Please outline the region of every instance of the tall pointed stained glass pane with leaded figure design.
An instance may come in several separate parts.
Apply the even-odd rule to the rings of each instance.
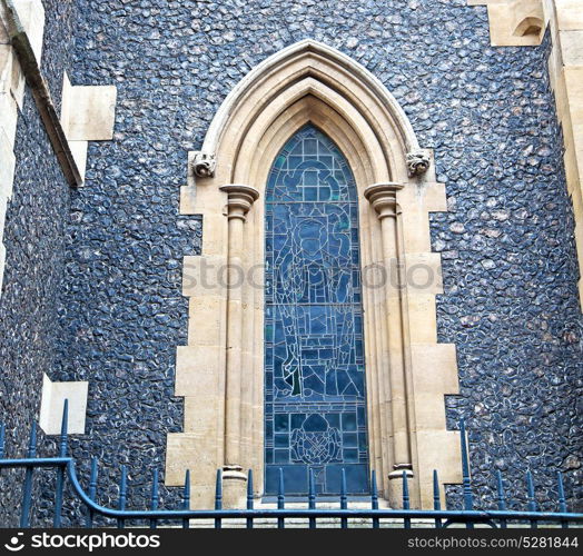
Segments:
[[[307,126],[281,149],[266,193],[266,493],[368,492],[356,185]]]

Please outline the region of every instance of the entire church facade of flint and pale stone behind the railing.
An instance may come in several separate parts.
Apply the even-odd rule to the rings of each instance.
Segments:
[[[0,408],[191,506],[581,504],[583,9],[0,0]],[[85,467],[83,467],[85,466]],[[580,487],[579,487],[580,488]],[[2,512],[18,487],[2,485]],[[147,492],[135,489],[136,504]],[[42,509],[39,509],[42,513]]]

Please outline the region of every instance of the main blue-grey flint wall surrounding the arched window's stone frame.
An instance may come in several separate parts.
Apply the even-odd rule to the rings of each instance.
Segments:
[[[116,83],[118,107],[115,140],[90,145],[87,186],[71,195],[53,379],[89,380],[75,453],[83,473],[90,455],[102,459],[101,502],[115,500],[126,463],[144,506],[166,434],[181,428],[181,260],[204,234],[179,216],[187,151],[250,68],[314,38],[377,76],[435,149],[451,208],[432,218],[446,287],[439,340],[457,345],[462,386],[447,411],[452,427],[467,419],[478,503],[492,498],[493,470],[518,496],[531,467],[544,497],[567,471],[573,505],[583,320],[549,44],[490,47],[485,9],[465,0],[79,0],[78,10],[75,85]]]

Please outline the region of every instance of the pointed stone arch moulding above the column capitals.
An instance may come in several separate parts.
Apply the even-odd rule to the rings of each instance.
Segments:
[[[388,169],[392,179],[407,171],[407,155],[428,156],[421,151],[405,112],[376,77],[338,50],[309,39],[271,56],[233,89],[210,123],[202,156],[227,157],[224,162],[231,162],[235,173],[237,163],[245,159],[248,139],[260,140],[273,120],[304,97],[323,100],[359,130],[366,152],[375,157],[378,167]],[[425,166],[408,170],[422,172],[428,165],[424,160]],[[227,165],[221,167],[229,170]],[[378,179],[384,177],[382,172]]]

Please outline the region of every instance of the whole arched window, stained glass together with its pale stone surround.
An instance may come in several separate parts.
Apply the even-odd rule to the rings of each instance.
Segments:
[[[355,60],[304,40],[231,90],[189,156],[180,211],[202,215],[202,252],[185,259],[185,426],[168,435],[167,483],[192,469],[205,507],[221,467],[237,505],[249,468],[260,496],[279,467],[289,494],[306,492],[309,468],[337,493],[342,467],[366,492],[369,467],[394,507],[403,471],[411,504],[431,506],[433,469],[461,477],[428,218],[446,209],[445,188],[398,102]]]

